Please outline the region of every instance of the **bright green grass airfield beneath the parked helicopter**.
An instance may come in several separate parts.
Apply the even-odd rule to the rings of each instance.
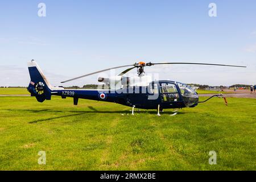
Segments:
[[[199,93],[203,101],[218,92]],[[213,98],[158,117],[90,100],[42,104],[26,89],[0,89],[0,170],[256,170],[256,95],[224,93],[228,106]]]

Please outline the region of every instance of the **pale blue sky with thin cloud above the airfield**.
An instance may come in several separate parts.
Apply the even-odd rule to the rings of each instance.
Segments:
[[[46,16],[38,15],[39,3]],[[216,17],[209,16],[210,3]],[[246,65],[145,71],[185,83],[256,84],[256,1],[1,1],[0,86],[27,86],[32,59],[54,86],[97,84],[110,72],[60,82],[142,60]]]

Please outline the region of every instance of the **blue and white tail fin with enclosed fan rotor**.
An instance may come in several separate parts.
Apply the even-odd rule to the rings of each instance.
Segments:
[[[52,90],[63,89],[52,87],[34,60],[28,62],[28,71],[30,72],[31,81],[27,90],[31,93],[31,96],[35,96],[39,102],[51,100]]]

